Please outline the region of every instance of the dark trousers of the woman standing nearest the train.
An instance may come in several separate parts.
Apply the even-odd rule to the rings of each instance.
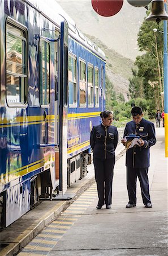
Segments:
[[[98,206],[110,205],[115,156],[109,159],[94,158],[93,163],[97,183]]]

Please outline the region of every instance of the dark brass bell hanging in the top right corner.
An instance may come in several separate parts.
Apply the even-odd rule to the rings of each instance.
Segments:
[[[161,20],[166,19],[168,19],[168,15],[165,11],[164,0],[152,0],[152,9],[145,20],[156,20],[157,23],[160,23]]]

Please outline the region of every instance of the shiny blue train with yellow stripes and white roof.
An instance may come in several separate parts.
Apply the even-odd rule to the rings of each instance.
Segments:
[[[87,174],[105,109],[105,55],[54,0],[0,1],[0,217]]]

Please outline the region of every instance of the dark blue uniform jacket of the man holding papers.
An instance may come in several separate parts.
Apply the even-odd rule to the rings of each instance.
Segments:
[[[145,119],[142,119],[139,125],[136,125],[134,121],[128,122],[124,130],[124,137],[130,134],[139,135],[145,144],[143,147],[135,146],[127,150],[126,166],[149,167],[149,148],[156,143],[154,124]]]

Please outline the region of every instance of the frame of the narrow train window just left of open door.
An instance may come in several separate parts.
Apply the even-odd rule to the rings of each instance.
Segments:
[[[48,46],[49,46],[49,102],[47,105],[44,105],[44,104],[41,104],[41,100],[40,100],[40,91],[41,91],[41,86],[40,86],[40,43],[42,42],[45,42],[45,43],[48,43]],[[51,56],[50,56],[50,42],[49,40],[45,39],[43,36],[40,36],[39,37],[39,42],[38,42],[38,65],[39,65],[39,70],[38,70],[38,77],[39,77],[39,103],[40,103],[40,106],[44,107],[44,108],[49,108],[49,105],[50,105],[50,61],[51,61]],[[46,97],[47,97],[47,94],[46,94]]]

